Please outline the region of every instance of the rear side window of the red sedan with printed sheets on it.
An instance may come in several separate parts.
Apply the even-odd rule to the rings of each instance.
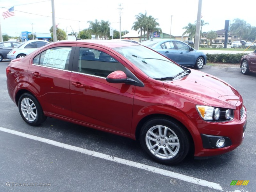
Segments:
[[[71,49],[71,47],[47,49],[33,59],[33,64],[68,70]]]

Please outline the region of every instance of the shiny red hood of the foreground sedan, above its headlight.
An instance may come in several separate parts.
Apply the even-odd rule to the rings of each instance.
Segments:
[[[164,81],[167,90],[185,94],[211,106],[237,109],[242,99],[237,90],[221,79],[191,69],[191,73],[174,81]],[[239,102],[240,101],[240,102]]]

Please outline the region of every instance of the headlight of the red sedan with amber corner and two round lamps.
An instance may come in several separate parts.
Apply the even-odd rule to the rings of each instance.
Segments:
[[[227,121],[233,119],[233,110],[205,105],[196,105],[198,114],[206,121]]]

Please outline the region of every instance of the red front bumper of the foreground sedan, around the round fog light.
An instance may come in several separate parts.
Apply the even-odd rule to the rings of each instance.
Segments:
[[[245,109],[245,108],[244,108]],[[223,153],[234,150],[241,145],[247,124],[246,109],[242,119],[240,120],[240,113],[237,110],[236,117],[232,121],[221,123],[202,123],[198,124],[200,132],[200,141],[195,142],[195,158],[206,158],[210,156],[217,156]],[[225,143],[221,147],[216,147],[218,139],[224,138]],[[199,139],[199,138],[198,138]]]

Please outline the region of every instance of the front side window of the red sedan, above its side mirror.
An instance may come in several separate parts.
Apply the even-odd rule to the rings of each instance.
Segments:
[[[125,71],[125,67],[105,52],[81,47],[78,59],[78,72],[107,77],[114,71]]]

